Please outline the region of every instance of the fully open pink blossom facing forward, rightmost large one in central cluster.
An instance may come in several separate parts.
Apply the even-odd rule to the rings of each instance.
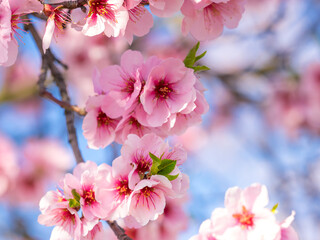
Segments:
[[[159,127],[195,101],[195,81],[193,70],[179,59],[168,58],[152,68],[140,97],[148,124]]]

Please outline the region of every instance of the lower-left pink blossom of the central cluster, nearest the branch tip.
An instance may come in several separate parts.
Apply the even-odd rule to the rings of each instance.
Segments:
[[[122,110],[109,95],[90,97],[83,119],[83,135],[90,148],[104,148],[115,139],[115,129]]]

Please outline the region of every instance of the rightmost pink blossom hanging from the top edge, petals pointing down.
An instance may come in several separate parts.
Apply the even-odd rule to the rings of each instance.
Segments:
[[[244,12],[245,0],[185,0],[182,32],[199,41],[221,35],[223,27],[236,28]]]

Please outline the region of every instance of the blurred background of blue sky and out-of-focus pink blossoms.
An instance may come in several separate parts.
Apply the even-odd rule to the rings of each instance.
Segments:
[[[128,48],[145,57],[184,59],[196,40],[181,35],[182,15],[154,20],[150,33],[131,46],[73,29],[53,41],[53,52],[69,66],[65,77],[73,104],[84,107],[93,95],[94,68],[119,64]],[[43,33],[45,22],[33,21]],[[0,68],[0,239],[42,240],[52,228],[37,222],[39,200],[75,161],[64,110],[38,97],[40,54],[30,34],[21,35],[16,64]],[[211,68],[198,74],[210,110],[201,125],[169,138],[188,150],[181,169],[190,176],[189,195],[141,231],[170,226],[170,239],[188,239],[224,206],[229,187],[258,182],[268,188],[269,207],[279,203],[277,219],[295,210],[300,239],[319,240],[320,1],[247,0],[239,27],[200,48],[207,51],[202,64]],[[50,81],[49,91],[59,98]],[[89,149],[82,119],[76,116],[75,124],[84,159],[110,164],[121,146]]]

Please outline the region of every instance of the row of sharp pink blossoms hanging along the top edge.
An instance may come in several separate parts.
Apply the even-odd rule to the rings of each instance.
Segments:
[[[51,1],[54,3],[56,1]],[[61,1],[57,1],[59,3]],[[43,50],[69,24],[86,36],[104,33],[107,37],[124,37],[131,44],[133,35],[144,36],[153,26],[153,17],[169,17],[181,10],[184,15],[182,32],[198,40],[211,40],[221,35],[223,27],[237,27],[244,12],[244,0],[89,0],[83,8],[71,12],[63,5],[53,7],[37,0],[1,0],[0,2],[0,65],[12,65],[18,54],[19,23],[28,24],[23,17],[42,12],[47,17],[43,35]]]

